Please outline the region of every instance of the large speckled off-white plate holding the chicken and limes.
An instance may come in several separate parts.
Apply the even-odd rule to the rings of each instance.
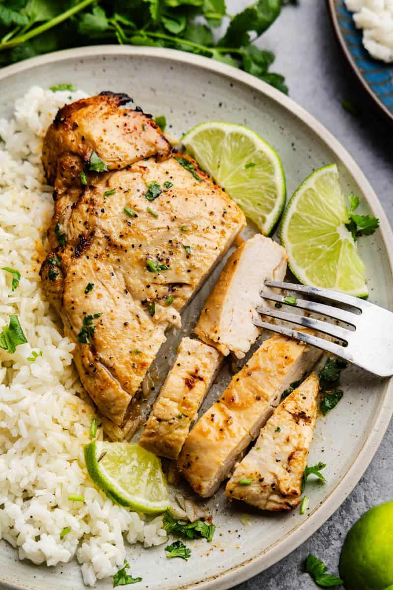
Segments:
[[[138,47],[85,47],[33,58],[0,71],[0,116],[10,116],[16,97],[33,84],[48,87],[75,83],[92,94],[124,91],[154,115],[165,114],[177,135],[205,120],[226,120],[252,127],[271,143],[282,159],[288,194],[312,169],[335,162],[342,188],[354,191],[381,220],[381,229],[359,240],[365,261],[370,300],[393,309],[393,235],[377,196],[354,160],[311,115],[288,97],[255,77],[196,55]],[[217,276],[219,269],[214,273]],[[184,320],[193,323],[209,286],[190,304]],[[177,339],[180,333],[175,335]],[[170,343],[166,347],[168,350]],[[227,376],[213,386],[208,404]],[[193,542],[188,562],[168,560],[160,548],[133,546],[128,561],[143,581],[137,588],[224,590],[262,571],[295,549],[344,501],[364,473],[393,412],[389,380],[375,379],[353,367],[342,382],[344,398],[316,427],[309,463],[323,460],[328,483],[310,484],[310,510],[289,514],[260,514],[245,506],[229,506],[221,492],[209,501],[217,532],[214,543]],[[248,512],[250,525],[239,515]],[[0,542],[0,583],[4,588],[80,590],[76,562],[57,568],[19,562],[15,549]],[[109,590],[111,579],[97,583]]]

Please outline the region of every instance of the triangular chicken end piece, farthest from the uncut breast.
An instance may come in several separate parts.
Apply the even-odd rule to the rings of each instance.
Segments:
[[[303,381],[275,409],[255,446],[226,485],[230,498],[261,510],[290,510],[300,503],[303,474],[316,420],[319,379]]]

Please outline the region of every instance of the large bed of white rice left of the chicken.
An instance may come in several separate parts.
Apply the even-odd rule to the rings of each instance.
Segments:
[[[52,215],[51,189],[40,162],[42,137],[57,109],[85,96],[38,87],[16,100],[14,119],[0,119],[0,330],[18,314],[28,343],[13,355],[0,349],[0,539],[20,559],[56,565],[75,555],[85,584],[123,567],[128,543],[166,541],[162,517],[146,522],[115,506],[87,476],[83,444],[89,442],[89,404],[71,363],[72,344],[49,308],[40,285],[37,251]],[[32,351],[39,353],[34,362]],[[100,437],[102,433],[100,433]],[[69,501],[82,494],[84,503]],[[62,539],[65,527],[71,531]]]

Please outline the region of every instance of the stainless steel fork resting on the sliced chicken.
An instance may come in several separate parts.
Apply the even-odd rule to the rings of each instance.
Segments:
[[[295,283],[278,283],[276,281],[265,281],[266,287],[285,289],[302,293],[306,296],[319,297],[321,299],[344,303],[351,306],[352,310],[332,307],[315,301],[297,299],[295,297],[282,296],[272,289],[263,289],[260,296],[263,299],[276,301],[273,309],[268,307],[257,307],[256,310],[263,316],[275,317],[285,322],[300,324],[318,332],[328,334],[336,339],[335,342],[325,340],[318,336],[312,336],[299,330],[282,326],[281,324],[263,322],[256,318],[256,326],[291,336],[296,340],[302,340],[312,346],[332,352],[349,362],[374,373],[381,377],[393,375],[393,313],[374,303],[352,297],[338,291],[328,289],[317,289],[316,287],[305,287]],[[282,306],[295,306],[298,309],[305,309],[308,312],[318,313],[323,316],[332,317],[351,326],[338,326],[330,322],[307,317],[296,313],[281,311]],[[339,342],[341,341],[341,342]]]

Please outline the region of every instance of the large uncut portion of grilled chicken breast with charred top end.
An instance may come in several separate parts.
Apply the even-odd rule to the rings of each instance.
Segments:
[[[106,95],[95,99],[109,100]],[[113,100],[111,108],[115,108]],[[61,157],[66,154],[67,158],[84,161],[91,152],[75,156],[67,150],[74,143],[80,146],[87,137],[92,143],[97,126],[91,106],[78,103],[82,107],[76,114],[71,105],[65,107],[71,113],[70,120],[68,110],[58,119],[57,125],[64,123],[63,118],[68,122],[65,136],[54,124],[45,145],[55,155],[58,142]],[[87,122],[81,119],[78,123],[75,117],[82,117],[84,108],[89,115]],[[180,310],[244,227],[245,217],[194,160],[181,154],[163,159],[170,151],[165,152],[165,139],[158,149],[153,140],[155,127],[151,128],[149,143],[147,138],[141,139],[145,123],[142,129],[134,123],[134,137],[133,129],[126,129],[126,124],[131,124],[126,109],[120,109],[118,116],[108,109],[95,105],[95,116],[104,113],[107,135],[101,137],[97,130],[98,143],[90,149],[108,158],[111,166],[127,166],[95,172],[88,176],[88,185],[79,186],[77,199],[72,207],[68,203],[67,215],[61,214],[61,221],[55,225],[57,231],[53,233],[61,236],[61,245],[48,255],[41,276],[49,300],[62,317],[65,334],[75,343],[74,360],[82,383],[98,409],[121,426],[128,419],[133,395],[165,340],[167,326],[180,325]],[[138,117],[140,112],[135,114]],[[123,120],[121,143],[118,126]],[[102,126],[101,122],[101,130]],[[108,137],[110,126],[115,128],[113,140]],[[158,132],[156,136],[161,137]],[[113,141],[114,152],[117,142],[123,146],[118,159],[111,150],[105,152],[105,140]],[[128,140],[132,148],[129,153],[124,147]],[[128,165],[130,159],[145,157],[150,148],[156,156]],[[48,152],[43,159],[50,181],[59,169],[53,168]],[[64,194],[67,198],[68,192]],[[57,215],[55,211],[55,219]]]

